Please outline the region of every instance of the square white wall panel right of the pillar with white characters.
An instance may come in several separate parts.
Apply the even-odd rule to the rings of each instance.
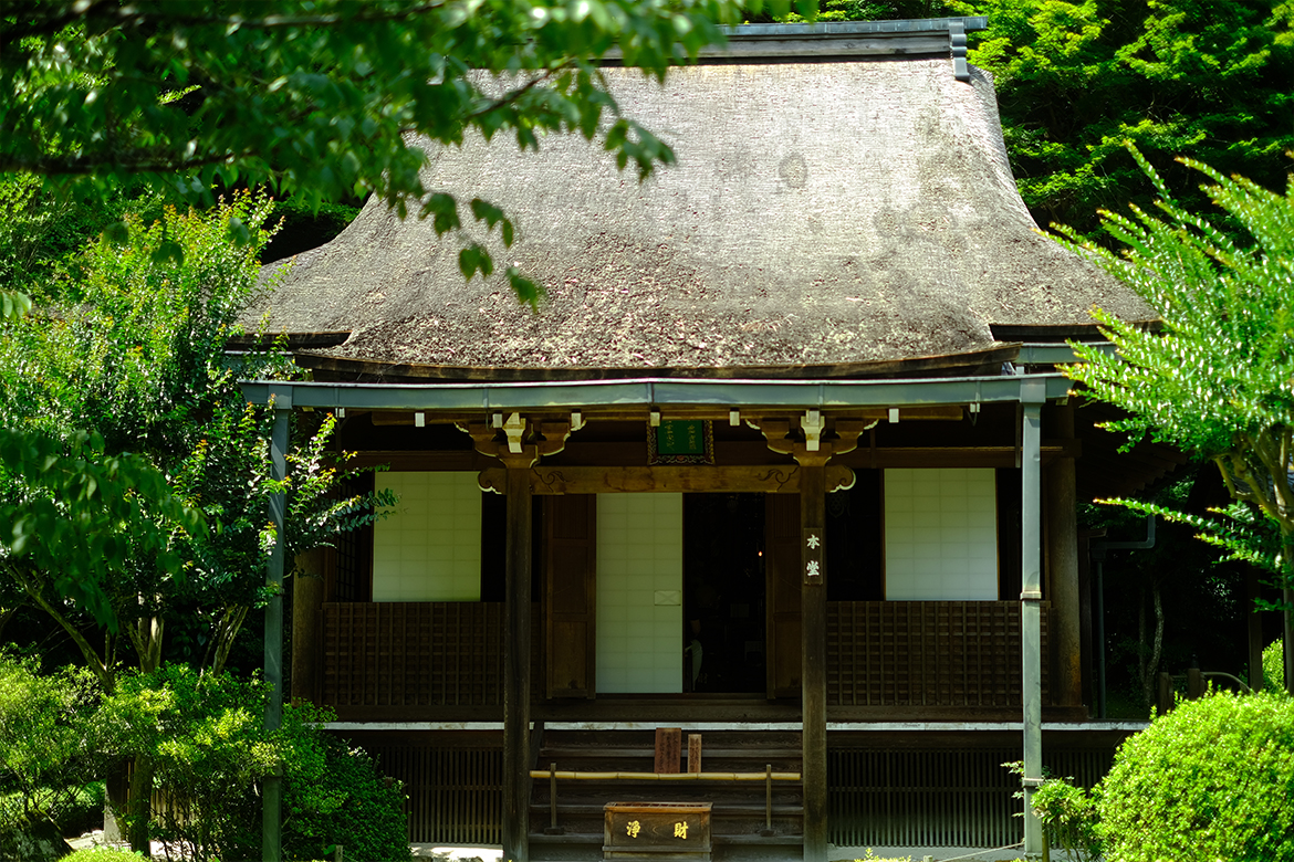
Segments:
[[[998,598],[994,470],[885,470],[885,598]]]

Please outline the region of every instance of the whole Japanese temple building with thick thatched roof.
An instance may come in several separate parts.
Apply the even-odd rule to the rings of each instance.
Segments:
[[[502,207],[510,248],[370,202],[269,279],[248,319],[312,372],[245,384],[276,446],[335,411],[400,498],[298,561],[290,695],[405,782],[410,840],[628,859],[673,817],[678,858],[1038,850],[1000,764],[1108,765],[1077,507],[1179,459],[1119,454],[1057,371],[1093,306],[1153,315],[1038,231],[983,26],[743,26],[664,85],[611,63],[677,164],[470,137],[424,184]],[[538,306],[465,282],[465,242]]]

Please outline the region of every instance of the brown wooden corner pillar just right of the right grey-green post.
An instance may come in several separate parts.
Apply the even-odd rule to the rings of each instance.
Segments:
[[[1074,437],[1074,407],[1062,405],[1052,414],[1052,433]],[[1078,486],[1074,459],[1058,457],[1047,469],[1047,562],[1052,588],[1052,654],[1056,677],[1052,702],[1066,707],[1083,703],[1083,645],[1078,591]]]

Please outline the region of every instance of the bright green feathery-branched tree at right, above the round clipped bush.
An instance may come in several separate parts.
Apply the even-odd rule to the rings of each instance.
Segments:
[[[1268,191],[1184,160],[1212,185],[1203,193],[1244,230],[1236,239],[1175,202],[1139,151],[1161,213],[1102,212],[1123,255],[1084,246],[1162,321],[1150,328],[1096,309],[1117,355],[1074,345],[1066,373],[1128,412],[1109,424],[1135,442],[1149,434],[1212,460],[1231,496],[1220,520],[1180,516],[1232,558],[1291,584],[1294,552],[1294,190]],[[1070,231],[1070,238],[1075,235]],[[1154,510],[1141,507],[1145,510]],[[1286,602],[1289,594],[1286,594]],[[1289,625],[1289,614],[1286,614]]]

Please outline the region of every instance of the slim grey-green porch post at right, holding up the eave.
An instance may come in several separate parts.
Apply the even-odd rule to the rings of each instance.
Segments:
[[[1038,393],[1042,395],[1042,393]],[[1042,823],[1034,815],[1034,791],[1043,778],[1042,690],[1042,397],[1025,395],[1021,414],[1021,558],[1020,638],[1024,704],[1025,853],[1042,852]]]

